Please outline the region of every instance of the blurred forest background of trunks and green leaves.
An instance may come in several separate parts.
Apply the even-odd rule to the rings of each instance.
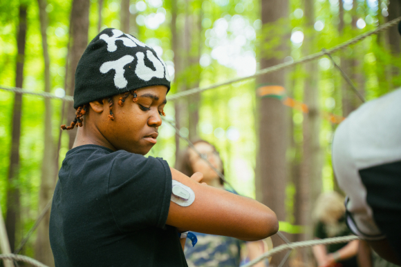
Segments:
[[[400,16],[399,0],[0,1],[0,85],[73,95],[88,41],[111,27],[156,50],[173,95],[300,59]],[[333,59],[369,101],[400,86],[400,50],[393,27]],[[330,144],[337,124],[360,104],[321,57],[169,101],[165,113],[184,137],[214,144],[230,184],[270,206],[280,230],[297,241],[312,237],[317,196],[339,190]],[[12,251],[53,195],[76,132],[60,133],[59,125],[73,116],[71,103],[0,90],[0,201]],[[174,166],[186,147],[164,123],[149,155]],[[48,215],[21,254],[53,266],[47,229]],[[308,252],[292,259],[310,261]]]

